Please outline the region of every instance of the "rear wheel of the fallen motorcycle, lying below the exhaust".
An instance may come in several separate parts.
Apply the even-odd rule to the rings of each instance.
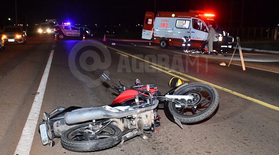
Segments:
[[[61,145],[70,151],[87,152],[110,148],[118,144],[122,139],[122,131],[115,125],[108,124],[101,131],[92,134],[85,130],[91,130],[88,125],[75,126],[63,133]]]

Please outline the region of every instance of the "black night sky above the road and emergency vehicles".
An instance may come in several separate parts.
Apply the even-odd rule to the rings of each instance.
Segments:
[[[6,24],[9,22],[8,18],[15,21],[15,0],[1,1],[2,28],[4,22]],[[243,26],[274,26],[279,21],[277,0],[156,0],[156,10],[204,10],[206,6],[206,11],[213,11],[219,23],[225,26],[230,19],[233,2],[232,20],[237,26],[241,19],[242,1],[245,2]],[[16,2],[20,23],[25,24],[27,21],[29,25],[44,22],[46,19],[57,19],[58,22],[70,21],[75,24],[135,25],[143,23],[145,11],[154,11],[154,0],[17,0]]]

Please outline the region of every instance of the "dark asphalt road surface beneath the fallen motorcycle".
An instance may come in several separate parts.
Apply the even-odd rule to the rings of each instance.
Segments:
[[[62,148],[60,139],[55,139],[52,148],[43,146],[37,127],[42,122],[43,112],[49,113],[59,106],[110,104],[118,93],[110,88],[111,82],[97,81],[104,70],[115,82],[121,79],[126,86],[134,85],[135,78],[143,84],[154,83],[162,94],[170,90],[167,85],[172,77],[170,73],[185,78],[187,83],[207,82],[217,89],[220,102],[210,119],[183,124],[183,129],[171,122],[163,108],[159,108],[161,126],[157,127],[158,132],[153,136],[148,135],[147,140],[135,137],[123,145],[94,154],[279,153],[278,55],[244,52],[248,65],[243,71],[241,66],[235,65],[239,63],[237,60],[230,67],[219,65],[229,62],[233,51],[227,57],[185,54],[181,49],[162,49],[157,45],[149,46],[146,42],[108,39],[101,43],[106,45],[109,54],[100,54],[100,51],[106,51],[103,45],[98,46],[100,51],[94,48],[100,55],[100,63],[103,63],[97,64],[101,69],[92,71],[88,68],[86,71],[78,58],[82,57],[87,65],[95,65],[98,59],[92,58],[96,55],[88,57],[88,53],[78,52],[75,55],[73,49],[84,47],[78,42],[80,40],[71,39],[54,42],[51,37],[33,36],[28,38],[26,45],[6,44],[6,49],[0,52],[0,154],[28,154],[20,151],[27,148],[30,148],[30,154],[88,154]],[[83,51],[92,50],[86,48]],[[32,136],[25,139],[23,147],[19,147],[29,113],[33,118],[38,115],[30,109],[36,102],[35,95],[39,94],[38,87],[50,56],[52,62],[39,118],[35,124],[29,125],[35,126],[36,130],[28,131]],[[259,62],[263,58],[266,61]],[[153,62],[153,67],[148,61]],[[75,63],[76,69],[72,63]],[[253,68],[249,68],[250,64],[254,65],[251,65]],[[264,70],[254,69],[261,66]],[[93,81],[86,81],[87,77]]]

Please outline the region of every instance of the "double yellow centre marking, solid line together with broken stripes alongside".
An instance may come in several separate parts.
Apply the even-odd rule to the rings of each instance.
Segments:
[[[175,70],[173,70],[173,69],[169,69],[169,68],[166,68],[166,67],[161,66],[161,65],[159,65],[159,64],[156,64],[156,63],[153,63],[153,62],[144,60],[144,59],[142,59],[142,58],[139,58],[139,57],[137,57],[137,56],[134,56],[134,55],[125,53],[125,52],[123,52],[123,51],[119,51],[119,50],[117,50],[117,49],[115,49],[115,48],[112,48],[112,47],[108,47],[108,48],[113,49],[113,50],[115,50],[115,51],[118,51],[118,52],[117,52],[118,54],[121,54],[121,55],[124,55],[124,56],[127,56],[127,55],[128,55],[128,56],[134,57],[134,58],[136,58],[136,59],[138,59],[138,60],[142,60],[142,61],[144,61],[144,62],[147,62],[147,63],[149,63],[149,64],[152,64],[152,65],[149,65],[149,66],[152,67],[152,68],[154,68],[154,69],[157,69],[157,70],[159,70],[159,71],[162,71],[162,72],[164,72],[164,73],[167,73],[167,74],[169,74],[169,75],[171,75],[171,76],[176,76],[176,77],[177,77],[177,75],[173,74],[173,73],[176,73],[176,74],[179,74],[179,75],[181,75],[181,76],[184,76],[184,77],[193,79],[193,80],[195,80],[195,81],[197,81],[197,82],[207,83],[207,84],[209,84],[209,85],[211,85],[211,86],[213,86],[213,87],[215,87],[215,88],[218,88],[218,89],[220,89],[220,90],[226,91],[226,92],[231,93],[231,94],[233,94],[233,95],[237,95],[237,96],[239,96],[239,97],[242,97],[242,98],[244,98],[244,99],[250,100],[250,101],[255,102],[255,103],[257,103],[257,104],[260,104],[260,105],[263,105],[263,106],[265,106],[265,107],[272,108],[272,109],[274,109],[274,110],[279,111],[279,107],[276,107],[276,106],[274,106],[274,105],[265,103],[265,102],[260,101],[260,100],[256,100],[256,99],[251,98],[251,97],[246,96],[246,95],[239,94],[239,93],[237,93],[237,92],[235,92],[235,91],[231,91],[231,90],[229,90],[229,89],[226,89],[226,88],[223,88],[223,87],[221,87],[221,86],[217,86],[217,85],[215,85],[215,84],[212,84],[212,83],[209,83],[209,82],[200,80],[200,79],[198,79],[198,78],[191,77],[191,76],[189,76],[189,75],[187,75],[187,74],[177,72],[177,71],[175,71]],[[160,68],[162,68],[162,69],[157,68],[157,67],[155,67],[155,66],[160,67]],[[163,70],[163,69],[165,69],[165,70]],[[167,72],[166,70],[168,70],[168,72]],[[181,78],[181,77],[179,76],[179,78]],[[184,80],[184,81],[189,81],[188,79],[185,79],[185,78],[181,78],[181,79]]]

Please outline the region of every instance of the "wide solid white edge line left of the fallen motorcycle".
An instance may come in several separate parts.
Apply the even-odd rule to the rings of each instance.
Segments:
[[[35,96],[29,116],[28,116],[25,126],[23,128],[23,131],[22,131],[22,134],[20,137],[20,141],[17,144],[16,150],[15,150],[15,155],[18,155],[18,154],[25,155],[25,154],[30,153],[33,138],[34,138],[34,133],[35,133],[36,127],[37,127],[39,113],[41,111],[42,100],[43,100],[46,85],[47,85],[47,78],[48,78],[49,70],[51,67],[53,52],[54,52],[54,50],[51,50],[51,54],[47,61],[47,66],[46,66],[46,69],[42,76],[41,83],[39,85],[37,94]]]

